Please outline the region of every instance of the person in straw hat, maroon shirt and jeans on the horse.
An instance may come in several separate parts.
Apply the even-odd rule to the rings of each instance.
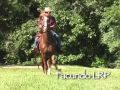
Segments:
[[[51,15],[51,8],[50,7],[45,7],[44,11],[40,14],[40,17],[38,19],[38,27],[40,29],[43,28],[43,19],[42,17],[46,16],[49,18],[48,24],[50,25],[50,30],[56,40],[56,44],[57,44],[57,52],[61,52],[61,40],[60,40],[60,36],[55,32],[55,28],[57,26],[55,17],[53,17]],[[38,44],[40,43],[39,38],[41,37],[41,33],[39,33],[36,37],[35,37],[35,51],[38,51]]]

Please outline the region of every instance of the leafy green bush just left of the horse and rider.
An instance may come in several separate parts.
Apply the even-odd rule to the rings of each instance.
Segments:
[[[29,20],[22,24],[21,28],[18,28],[12,34],[10,33],[8,40],[5,42],[5,47],[8,52],[6,63],[12,63],[9,62],[11,59],[14,63],[29,60],[34,36],[38,31],[36,23],[36,20]]]

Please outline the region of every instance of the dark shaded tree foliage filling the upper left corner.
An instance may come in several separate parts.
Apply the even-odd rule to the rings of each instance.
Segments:
[[[0,0],[0,29],[8,32],[35,17],[38,6],[34,0]]]

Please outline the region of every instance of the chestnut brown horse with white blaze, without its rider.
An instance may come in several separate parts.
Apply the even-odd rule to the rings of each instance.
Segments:
[[[51,65],[54,64],[56,69],[56,42],[54,40],[53,34],[48,25],[48,18],[44,17],[44,27],[41,30],[41,38],[39,49],[41,51],[42,56],[42,68],[45,74],[50,74]]]

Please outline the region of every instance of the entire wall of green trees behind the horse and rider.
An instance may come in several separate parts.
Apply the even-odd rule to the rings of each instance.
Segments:
[[[0,51],[6,63],[29,62],[39,31],[39,9],[50,6],[57,20],[64,55],[60,64],[107,66],[119,61],[120,0],[0,1]],[[119,66],[119,65],[118,65]]]

